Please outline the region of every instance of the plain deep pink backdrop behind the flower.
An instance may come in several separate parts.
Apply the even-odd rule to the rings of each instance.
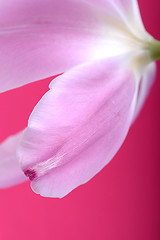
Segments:
[[[160,39],[160,1],[139,0],[147,30]],[[89,183],[63,199],[29,183],[0,190],[0,240],[159,240],[160,63],[156,83],[122,148]],[[0,95],[0,140],[22,129],[49,80]]]

